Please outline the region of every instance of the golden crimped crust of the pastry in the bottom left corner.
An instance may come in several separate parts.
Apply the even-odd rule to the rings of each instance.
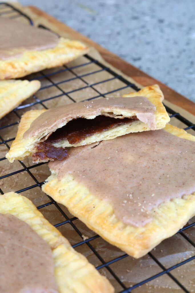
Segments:
[[[51,248],[59,293],[114,292],[109,281],[76,252],[26,197],[14,192],[0,196],[0,213],[12,214],[27,223]]]

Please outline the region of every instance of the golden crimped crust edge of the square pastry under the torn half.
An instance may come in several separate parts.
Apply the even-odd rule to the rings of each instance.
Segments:
[[[191,134],[168,125],[168,132],[194,141]],[[51,170],[52,172],[52,170]],[[72,175],[61,181],[52,174],[42,190],[69,211],[90,229],[109,243],[119,247],[134,258],[139,258],[158,245],[163,239],[175,234],[195,214],[195,193],[163,202],[152,210],[153,220],[142,227],[122,223],[114,214],[112,206],[77,183]]]

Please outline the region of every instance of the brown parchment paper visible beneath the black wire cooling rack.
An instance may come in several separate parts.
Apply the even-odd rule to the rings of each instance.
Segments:
[[[51,30],[54,30],[58,34],[64,37],[71,38],[70,35],[67,35],[67,33],[65,33],[64,31],[60,31],[57,27],[49,23],[44,18],[37,17],[37,15],[33,14],[30,11],[30,9],[23,8],[19,4],[15,4],[15,3],[13,3],[13,5],[22,9],[25,13],[31,16],[35,24],[45,25],[46,27],[50,28]],[[20,21],[24,21],[23,18],[20,18]],[[95,49],[91,48],[89,55],[94,57],[95,59],[98,59],[103,64],[110,67],[115,72],[118,72],[120,75],[124,76],[129,81],[137,84],[133,79],[122,74],[122,72],[115,69],[110,64],[106,63]],[[89,60],[86,57],[80,57],[77,60],[74,60],[73,62],[70,62],[67,65],[68,67],[72,67],[72,66],[77,66],[79,64],[83,64],[86,62],[89,62]],[[99,69],[100,68],[96,64],[89,64],[83,67],[77,67],[73,69],[73,71],[65,71],[62,73],[51,75],[49,76],[49,80],[45,78],[41,79],[42,87],[47,85],[50,85],[50,87],[40,90],[36,94],[36,96],[39,100],[42,101],[49,97],[61,95],[52,100],[44,101],[43,104],[46,105],[46,107],[48,108],[72,103],[73,101],[70,98],[68,98],[68,96],[63,94],[63,91],[70,92],[73,90],[77,90],[78,88],[85,87],[86,82],[88,84],[94,84],[102,80],[112,78],[113,76],[106,71],[101,71],[100,73],[84,76],[82,78],[82,81],[79,79],[74,79],[72,81],[60,83],[58,84],[58,88],[56,88],[56,86],[53,86],[52,82],[60,82],[66,79],[74,78],[75,73],[78,75],[83,75],[83,74],[87,74],[89,72],[93,72]],[[60,68],[58,67],[55,69],[45,70],[44,73],[48,74],[48,73],[52,73],[59,70]],[[36,76],[40,76],[40,75],[41,75],[40,73],[35,73],[35,74],[32,74],[31,76],[28,76],[28,78],[36,78]],[[122,83],[118,79],[113,79],[108,82],[97,84],[96,86],[93,86],[93,88],[87,87],[82,90],[74,91],[70,93],[69,96],[75,99],[76,101],[82,101],[82,100],[85,100],[86,98],[97,96],[98,93],[94,89],[104,94],[106,92],[112,91],[117,88],[121,88],[123,86],[125,86],[124,83]],[[140,88],[142,87],[140,84],[137,84],[137,86],[139,86]],[[133,90],[131,90],[130,88],[125,88],[120,91],[116,91],[115,93],[112,93],[110,96],[121,96],[122,94],[129,93],[130,91],[133,91]],[[23,105],[31,103],[31,102],[34,102],[33,98],[29,98],[26,101],[24,101]],[[183,115],[190,121],[192,122],[195,121],[195,117],[192,114],[188,113],[187,111],[183,110],[182,108],[178,106],[171,104],[170,102],[166,100],[164,102],[170,108],[179,112],[181,115]],[[42,108],[43,106],[41,104],[37,104],[25,109],[20,109],[17,111],[17,113],[19,115],[22,115],[27,110],[42,109]],[[0,120],[0,127],[7,124],[14,123],[14,122],[18,122],[18,121],[19,121],[18,116],[15,115],[14,112],[11,112],[8,115],[6,115],[3,119]],[[177,120],[176,118],[172,118],[171,123],[181,128],[184,128],[186,126],[182,122],[179,122],[179,120]],[[12,127],[4,128],[0,130],[0,135],[1,137],[3,137],[4,140],[11,139],[15,137],[17,133],[17,128],[18,128],[18,125],[13,125]],[[188,132],[193,134],[191,130],[189,130]],[[8,145],[10,146],[11,142],[8,142]],[[1,158],[4,157],[7,151],[8,149],[6,145],[1,144],[0,157]],[[31,158],[26,158],[24,159],[23,162],[25,163],[25,166],[27,167],[34,165],[32,163]],[[15,161],[12,164],[9,163],[8,160],[0,161],[0,176],[7,175],[17,170],[23,170],[23,166],[20,164],[19,161]],[[50,175],[48,164],[35,166],[34,168],[31,168],[30,171],[33,174],[33,176],[36,178],[36,180],[38,180],[39,182],[44,181]],[[175,172],[177,172],[177,170],[175,170]],[[26,170],[23,170],[18,174],[8,176],[0,180],[0,188],[3,190],[4,193],[9,191],[18,191],[20,189],[23,189],[28,186],[32,186],[34,184],[35,182],[33,178],[29,175],[29,173]],[[32,189],[26,190],[22,194],[27,196],[30,200],[32,200],[32,202],[36,206],[50,202],[49,198],[41,191],[40,187],[35,187]],[[68,215],[69,218],[73,217],[73,215],[71,215],[64,206],[60,205],[60,207],[63,211],[65,211],[65,213]],[[51,222],[51,224],[58,224],[60,222],[65,221],[65,218],[63,217],[63,215],[58,211],[57,207],[53,204],[40,209],[40,211],[44,214],[46,219],[48,219],[49,222]],[[192,222],[193,222],[193,219],[189,221],[189,223],[192,223]],[[74,220],[73,223],[81,231],[82,237],[79,234],[77,234],[77,232],[73,229],[70,223],[67,223],[58,227],[61,233],[70,241],[72,245],[82,241],[83,239],[85,240],[86,238],[96,235],[93,231],[88,229],[82,222],[80,222],[80,220],[78,219]],[[195,230],[193,227],[185,230],[183,233],[187,237],[189,237],[189,239],[191,239],[192,241],[195,241]],[[110,261],[124,254],[124,252],[120,251],[120,249],[107,243],[101,237],[90,241],[90,243],[105,262]],[[79,251],[80,253],[84,254],[88,258],[89,262],[91,262],[95,266],[102,264],[101,261],[96,257],[96,255],[92,252],[92,250],[87,246],[87,244],[82,244],[81,246],[78,246],[75,249]],[[189,257],[194,256],[195,248],[186,239],[184,239],[183,236],[181,236],[180,234],[176,234],[172,236],[171,238],[166,239],[160,245],[154,248],[152,251],[152,254],[163,264],[165,268],[170,268],[171,266],[181,261],[184,261]],[[138,260],[128,256],[120,261],[117,261],[111,264],[109,267],[115,272],[115,274],[119,277],[119,279],[124,283],[126,287],[133,286],[163,271],[163,269],[149,255],[146,255]],[[173,277],[179,280],[179,282],[182,285],[184,285],[184,287],[186,287],[189,292],[195,292],[194,270],[195,270],[195,263],[194,261],[190,261],[189,263],[186,263],[172,270],[170,273],[172,274]],[[101,269],[100,272],[101,274],[106,275],[106,277],[108,277],[108,279],[111,281],[111,283],[115,287],[115,292],[122,291],[123,288],[121,287],[121,285],[118,284],[118,282],[114,279],[114,277],[111,275],[111,273],[108,271],[107,268]],[[146,284],[140,287],[137,287],[136,289],[133,289],[132,292],[135,292],[135,293],[138,293],[138,292],[140,293],[143,293],[143,292],[175,293],[175,292],[183,292],[183,291],[172,280],[172,278],[169,275],[165,274],[150,282],[147,282]]]

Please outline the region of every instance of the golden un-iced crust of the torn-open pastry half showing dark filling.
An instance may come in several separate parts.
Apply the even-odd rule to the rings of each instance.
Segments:
[[[158,85],[145,87],[138,92],[125,95],[125,97],[128,97],[128,96],[133,96],[133,97],[144,96],[148,98],[150,102],[153,103],[153,105],[155,105],[156,130],[165,127],[166,123],[170,121],[170,117],[168,116],[165,110],[165,107],[162,104],[162,100],[164,97]],[[33,110],[33,111],[34,111],[34,114],[32,113],[32,111],[29,111],[29,112],[26,112],[25,115],[23,115],[19,124],[17,136],[15,140],[13,141],[8,154],[6,154],[6,158],[11,163],[15,159],[22,160],[25,156],[32,155],[34,144],[40,141],[40,134],[39,134],[39,137],[31,136],[31,137],[28,137],[27,139],[23,138],[23,134],[25,133],[27,129],[29,129],[30,124],[46,110]],[[126,115],[127,115],[126,117],[128,117],[128,112],[126,113]],[[60,125],[59,127],[62,127],[62,125]],[[86,137],[80,143],[77,143],[77,144],[70,144],[68,140],[63,140],[63,141],[55,143],[54,145],[55,147],[78,147],[81,145],[92,144],[93,142],[98,142],[101,140],[113,139],[115,137],[128,134],[130,132],[141,132],[146,130],[150,130],[149,126],[146,123],[141,122],[140,120],[135,120],[131,122],[130,124],[120,125],[110,130],[93,134],[92,136]],[[48,132],[49,131],[50,130],[48,130]],[[44,136],[47,135],[48,132],[44,132]]]

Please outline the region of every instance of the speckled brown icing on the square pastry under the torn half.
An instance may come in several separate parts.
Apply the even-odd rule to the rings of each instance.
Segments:
[[[195,142],[155,130],[90,146],[71,148],[66,160],[49,167],[59,180],[72,175],[108,201],[125,224],[143,226],[153,219],[153,208],[195,191]]]

